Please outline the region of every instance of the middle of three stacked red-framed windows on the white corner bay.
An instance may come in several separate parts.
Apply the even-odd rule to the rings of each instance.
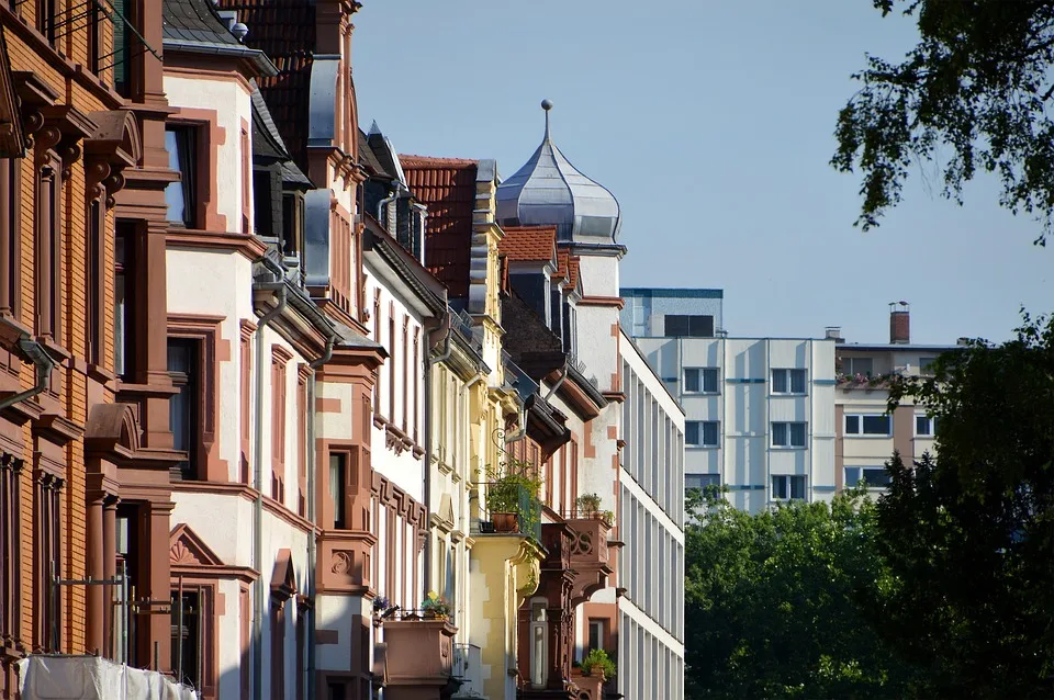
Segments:
[[[169,399],[168,417],[172,430],[172,449],[187,452],[187,459],[172,470],[176,478],[195,478],[198,466],[198,398],[200,395],[200,341],[191,338],[168,339],[168,373],[177,393]]]

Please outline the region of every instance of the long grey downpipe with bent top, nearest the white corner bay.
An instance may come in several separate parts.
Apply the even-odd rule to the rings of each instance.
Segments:
[[[277,282],[259,285],[257,289],[273,290],[278,293],[278,305],[260,317],[256,326],[256,434],[253,438],[254,464],[253,487],[256,489],[256,503],[253,508],[253,568],[258,573],[256,595],[253,596],[253,634],[256,644],[253,647],[254,661],[254,700],[264,698],[264,328],[285,309],[289,298],[285,295],[285,272],[270,258],[257,259],[265,268],[274,273]]]

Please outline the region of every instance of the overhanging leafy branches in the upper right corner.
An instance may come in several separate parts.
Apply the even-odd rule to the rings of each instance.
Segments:
[[[1054,224],[1054,0],[872,0],[883,16],[917,18],[900,64],[868,56],[839,113],[831,165],[863,172],[856,222],[866,230],[900,201],[912,161],[943,160],[943,194],[961,203],[978,169],[1000,204]]]

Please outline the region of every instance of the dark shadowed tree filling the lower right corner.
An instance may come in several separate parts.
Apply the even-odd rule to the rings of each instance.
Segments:
[[[937,418],[939,458],[889,464],[872,622],[928,667],[921,697],[1054,697],[1054,319],[942,355],[906,397]]]

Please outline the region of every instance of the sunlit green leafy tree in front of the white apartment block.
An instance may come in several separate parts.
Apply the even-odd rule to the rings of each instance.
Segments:
[[[710,492],[685,533],[688,698],[900,698],[867,624],[887,574],[861,493],[749,515]]]

